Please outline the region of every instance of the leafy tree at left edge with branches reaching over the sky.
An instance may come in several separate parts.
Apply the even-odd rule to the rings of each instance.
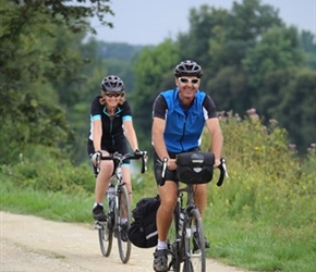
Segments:
[[[111,26],[104,20],[112,14],[109,1],[89,2],[0,0],[0,131],[5,132],[0,163],[13,160],[29,144],[57,147],[71,135],[54,87],[61,78],[73,77],[83,61],[76,50],[62,50],[69,44],[56,42],[56,37],[94,30],[86,21],[93,15]]]

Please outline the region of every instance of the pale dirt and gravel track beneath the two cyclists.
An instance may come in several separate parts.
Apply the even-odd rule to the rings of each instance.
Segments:
[[[0,212],[1,272],[142,272],[153,271],[153,251],[132,248],[129,263],[120,260],[117,240],[111,256],[101,256],[93,225],[42,220]],[[242,271],[207,260],[207,271]]]

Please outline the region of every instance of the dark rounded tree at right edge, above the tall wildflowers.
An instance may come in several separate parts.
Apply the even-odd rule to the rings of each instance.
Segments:
[[[289,132],[289,138],[301,153],[316,139],[316,71],[292,69],[277,71],[265,85],[270,96],[263,96],[262,106]]]

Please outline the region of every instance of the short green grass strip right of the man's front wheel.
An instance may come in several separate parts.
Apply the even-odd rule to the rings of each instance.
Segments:
[[[315,271],[316,237],[312,225],[284,228],[244,222],[208,224],[209,256],[255,271]]]

